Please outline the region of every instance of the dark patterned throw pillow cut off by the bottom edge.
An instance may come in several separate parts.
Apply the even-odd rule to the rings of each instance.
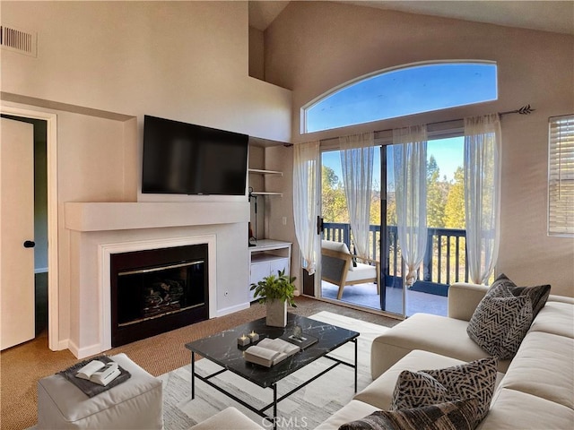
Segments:
[[[456,400],[416,409],[378,410],[339,430],[473,430],[477,400]]]

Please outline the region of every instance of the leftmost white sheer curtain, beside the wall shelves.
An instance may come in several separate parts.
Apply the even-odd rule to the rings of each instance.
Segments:
[[[321,160],[319,142],[300,143],[293,150],[293,219],[295,236],[309,274],[317,267],[317,216]]]

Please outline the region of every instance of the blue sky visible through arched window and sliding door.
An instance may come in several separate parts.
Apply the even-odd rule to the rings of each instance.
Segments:
[[[497,99],[494,63],[418,64],[362,79],[336,90],[307,109],[309,132],[329,130],[397,116]],[[429,141],[427,154],[437,160],[440,178],[453,179],[463,165],[463,138]],[[376,152],[373,182],[381,184]],[[323,154],[324,163],[342,180],[339,152]],[[389,182],[392,163],[387,163]]]

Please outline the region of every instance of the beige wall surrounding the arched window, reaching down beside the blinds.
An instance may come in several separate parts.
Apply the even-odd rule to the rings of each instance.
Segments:
[[[574,38],[535,30],[328,2],[291,2],[265,31],[265,79],[293,91],[293,142],[513,110],[502,120],[501,241],[497,271],[574,295],[574,241],[546,235],[548,116],[574,111]],[[499,99],[324,133],[300,134],[300,107],[366,73],[448,59],[496,61]],[[283,159],[283,170],[291,161]],[[281,166],[277,167],[282,169]],[[277,212],[291,211],[284,198]],[[274,208],[272,211],[274,211]],[[278,215],[278,214],[277,214]],[[272,221],[272,236],[289,236]],[[295,250],[297,255],[297,250]]]

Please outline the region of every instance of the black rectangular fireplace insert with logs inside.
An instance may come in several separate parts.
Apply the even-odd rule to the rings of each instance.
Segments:
[[[207,244],[111,254],[111,344],[209,318]]]

